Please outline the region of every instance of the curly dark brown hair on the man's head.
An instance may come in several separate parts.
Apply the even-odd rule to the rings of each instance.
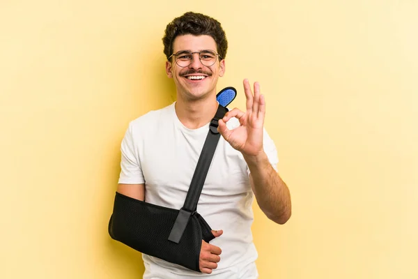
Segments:
[[[226,50],[228,49],[228,41],[224,29],[221,24],[208,15],[201,13],[187,12],[180,17],[176,17],[172,22],[167,24],[167,28],[162,38],[164,44],[164,54],[169,56],[173,54],[173,42],[177,36],[192,34],[194,36],[208,35],[211,36],[217,45],[219,59],[224,59]]]

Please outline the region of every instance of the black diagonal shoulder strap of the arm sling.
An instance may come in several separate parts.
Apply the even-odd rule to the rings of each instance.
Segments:
[[[218,105],[217,112],[213,119],[210,121],[208,135],[206,136],[205,144],[203,144],[203,149],[199,156],[196,169],[194,170],[192,182],[190,183],[185,203],[180,209],[176,218],[176,222],[171,229],[169,241],[173,241],[174,243],[180,242],[187,223],[189,223],[190,217],[193,213],[196,212],[197,203],[199,202],[199,197],[203,189],[203,184],[205,183],[210,163],[212,162],[217,143],[219,142],[220,134],[217,131],[218,121],[224,117],[227,111],[228,110],[226,107]]]

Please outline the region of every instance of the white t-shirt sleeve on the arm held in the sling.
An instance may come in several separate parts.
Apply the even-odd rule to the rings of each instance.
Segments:
[[[118,183],[142,184],[145,183],[141,169],[139,153],[135,147],[137,142],[132,133],[132,123],[126,130],[121,144],[121,174]]]

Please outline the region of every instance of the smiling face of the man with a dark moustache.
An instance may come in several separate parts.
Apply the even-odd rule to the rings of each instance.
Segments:
[[[187,50],[189,52],[201,52],[211,50],[217,53],[217,45],[211,36],[177,36],[173,43],[173,53]],[[177,94],[186,100],[198,100],[206,98],[211,94],[216,95],[216,84],[219,77],[225,72],[225,61],[216,62],[212,66],[204,66],[199,60],[199,54],[192,54],[192,61],[189,66],[180,67],[174,56],[166,63],[167,76],[173,78],[176,84]],[[204,77],[203,79],[197,79]]]

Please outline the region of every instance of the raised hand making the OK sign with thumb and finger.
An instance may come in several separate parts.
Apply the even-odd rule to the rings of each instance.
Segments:
[[[254,95],[248,80],[244,80],[247,112],[235,108],[227,112],[219,120],[219,133],[231,146],[243,155],[256,156],[263,151],[263,125],[265,116],[265,100],[260,94],[260,84],[254,83]],[[226,127],[226,122],[232,117],[240,121],[240,126],[233,130]]]

